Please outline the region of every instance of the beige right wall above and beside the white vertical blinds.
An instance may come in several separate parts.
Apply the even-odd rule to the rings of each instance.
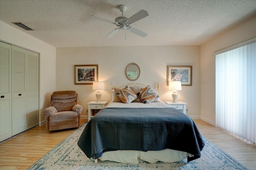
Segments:
[[[256,37],[256,17],[201,45],[201,119],[215,125],[215,57],[212,53]]]

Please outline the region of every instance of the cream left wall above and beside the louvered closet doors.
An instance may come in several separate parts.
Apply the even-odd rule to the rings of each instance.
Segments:
[[[40,125],[44,123],[43,110],[50,106],[50,95],[56,90],[56,48],[0,21],[0,39],[40,53]]]

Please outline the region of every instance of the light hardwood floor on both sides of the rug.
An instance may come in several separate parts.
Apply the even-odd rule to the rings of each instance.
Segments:
[[[87,120],[82,120],[81,123]],[[249,170],[256,170],[256,146],[202,120],[194,120],[200,133]],[[26,170],[76,129],[58,132],[35,127],[0,143],[0,169]]]

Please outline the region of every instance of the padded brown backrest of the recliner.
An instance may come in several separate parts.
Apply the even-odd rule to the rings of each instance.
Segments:
[[[74,105],[78,104],[76,91],[58,91],[53,92],[51,104],[57,111],[70,111]]]

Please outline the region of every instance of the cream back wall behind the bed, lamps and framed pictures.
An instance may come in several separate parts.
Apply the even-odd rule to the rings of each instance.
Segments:
[[[99,81],[105,82],[102,100],[110,101],[111,83],[122,86],[134,83],[125,75],[126,66],[136,63],[141,74],[135,83],[156,86],[160,83],[160,100],[172,100],[167,86],[167,65],[192,65],[192,86],[182,86],[178,100],[186,102],[190,117],[200,119],[200,46],[126,46],[72,47],[56,49],[56,90],[75,90],[82,116],[87,103],[96,100],[92,85],[74,85],[74,65],[98,64]]]

